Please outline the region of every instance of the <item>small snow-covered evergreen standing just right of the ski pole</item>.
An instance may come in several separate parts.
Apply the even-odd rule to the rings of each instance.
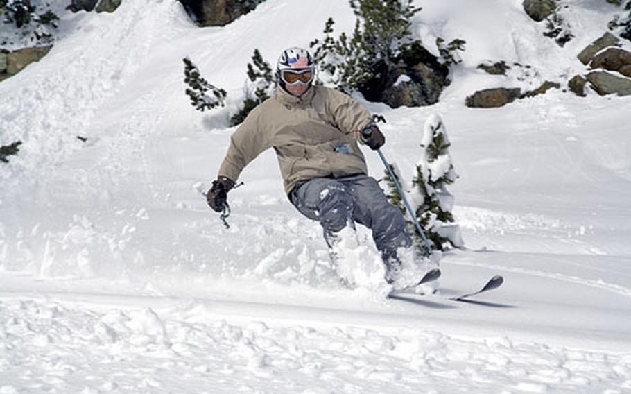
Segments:
[[[423,151],[412,183],[417,192],[416,200],[421,201],[415,215],[436,250],[464,246],[460,229],[453,223],[451,214],[454,198],[447,190],[447,185],[458,178],[451,162],[449,146],[451,144],[442,119],[436,114],[431,115],[425,122],[421,144]],[[417,244],[422,247],[420,234],[417,234],[416,229],[414,231]]]

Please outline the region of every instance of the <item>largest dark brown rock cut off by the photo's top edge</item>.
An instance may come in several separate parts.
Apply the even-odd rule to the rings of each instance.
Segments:
[[[265,0],[180,0],[200,26],[225,26]]]

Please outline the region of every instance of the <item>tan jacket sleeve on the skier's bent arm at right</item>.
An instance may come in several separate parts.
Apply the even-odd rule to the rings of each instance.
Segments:
[[[372,123],[370,112],[363,105],[335,89],[329,89],[327,106],[338,128],[346,134],[353,133],[357,139],[361,130]]]

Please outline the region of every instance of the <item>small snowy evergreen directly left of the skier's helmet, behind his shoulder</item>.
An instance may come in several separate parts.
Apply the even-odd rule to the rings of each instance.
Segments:
[[[269,99],[274,91],[276,78],[272,67],[263,60],[263,56],[258,49],[254,49],[252,63],[248,63],[248,80],[250,82],[245,85],[243,108],[230,118],[230,126],[236,126],[243,122],[250,111]]]

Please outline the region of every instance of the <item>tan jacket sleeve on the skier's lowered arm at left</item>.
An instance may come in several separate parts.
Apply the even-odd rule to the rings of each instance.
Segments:
[[[221,163],[218,176],[236,180],[241,171],[261,152],[270,148],[270,134],[261,121],[261,106],[248,114],[230,137],[230,147]]]

